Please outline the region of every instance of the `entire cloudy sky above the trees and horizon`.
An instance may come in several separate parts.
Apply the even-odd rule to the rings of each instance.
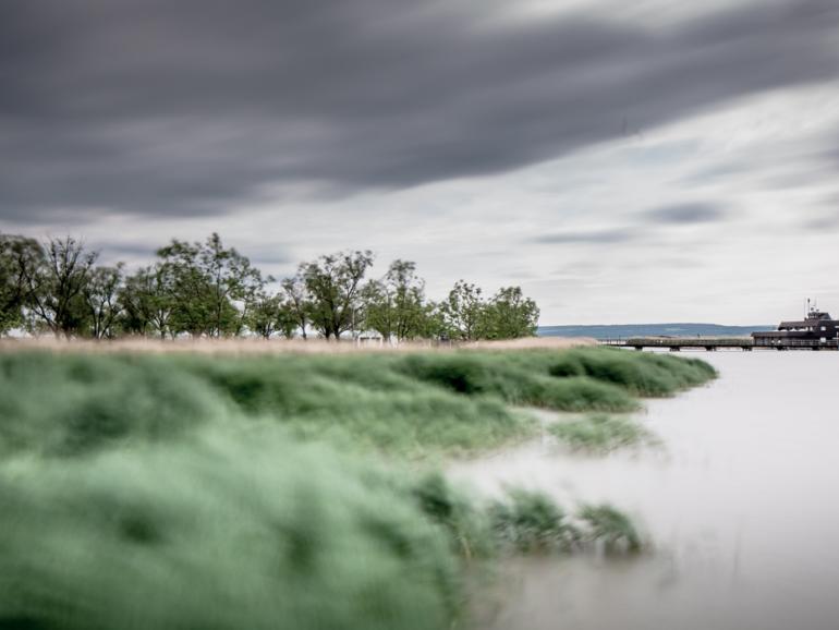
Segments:
[[[836,315],[839,0],[4,0],[0,231],[369,249],[543,325]]]

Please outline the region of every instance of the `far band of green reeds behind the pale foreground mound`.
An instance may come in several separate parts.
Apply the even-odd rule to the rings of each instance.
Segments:
[[[0,453],[73,455],[256,420],[397,455],[475,451],[534,434],[534,423],[510,404],[627,411],[636,408],[639,393],[671,393],[713,374],[694,360],[596,348],[331,356],[0,353]]]

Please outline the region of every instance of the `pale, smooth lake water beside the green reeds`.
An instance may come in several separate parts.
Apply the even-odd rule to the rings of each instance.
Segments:
[[[489,494],[611,502],[655,546],[518,560],[482,628],[839,628],[839,353],[684,354],[720,378],[647,402],[660,449],[583,457],[544,439],[451,469]]]

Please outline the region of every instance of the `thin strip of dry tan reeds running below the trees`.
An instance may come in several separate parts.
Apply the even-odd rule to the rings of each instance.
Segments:
[[[324,339],[146,339],[125,338],[112,341],[93,341],[83,339],[56,339],[36,337],[28,339],[2,339],[0,352],[21,350],[44,350],[50,352],[137,352],[137,353],[195,353],[195,354],[335,354],[346,352],[417,352],[447,351],[457,348],[482,350],[521,350],[527,348],[566,349],[592,346],[593,339],[531,337],[507,341],[475,341],[469,343],[438,343],[433,341],[403,342],[399,346],[356,343],[351,340],[340,342]]]

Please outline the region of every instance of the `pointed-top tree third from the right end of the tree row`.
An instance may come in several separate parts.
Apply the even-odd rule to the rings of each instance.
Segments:
[[[425,281],[414,263],[393,261],[381,280],[365,286],[363,295],[365,325],[386,340],[415,339],[427,328]]]

